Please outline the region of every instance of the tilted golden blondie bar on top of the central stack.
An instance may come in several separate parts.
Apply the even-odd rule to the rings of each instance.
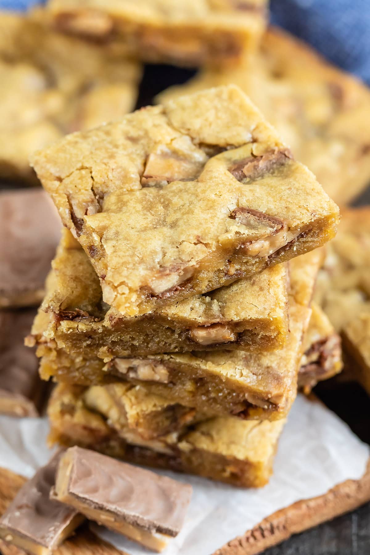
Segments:
[[[33,156],[63,224],[122,314],[303,254],[339,210],[234,85],[147,107]]]

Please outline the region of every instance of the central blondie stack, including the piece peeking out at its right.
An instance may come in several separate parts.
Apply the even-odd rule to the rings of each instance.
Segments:
[[[264,485],[297,388],[341,367],[311,306],[336,204],[234,85],[32,163],[65,226],[27,339],[52,442]]]

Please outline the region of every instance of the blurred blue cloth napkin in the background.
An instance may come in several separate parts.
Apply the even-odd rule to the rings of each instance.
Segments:
[[[0,0],[0,8],[39,2]],[[271,0],[271,21],[370,84],[370,0]]]

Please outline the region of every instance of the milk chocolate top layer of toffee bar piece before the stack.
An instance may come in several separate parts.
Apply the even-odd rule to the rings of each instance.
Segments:
[[[70,495],[147,531],[179,533],[191,486],[88,449],[71,447],[71,452]]]

